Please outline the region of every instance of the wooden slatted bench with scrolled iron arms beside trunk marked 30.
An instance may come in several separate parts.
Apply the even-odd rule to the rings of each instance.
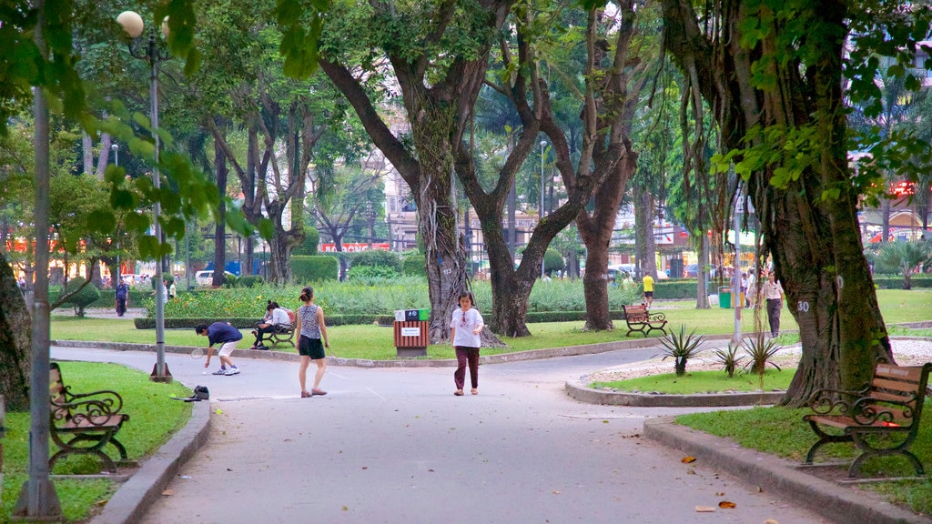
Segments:
[[[874,367],[870,384],[858,392],[813,393],[810,406],[815,413],[802,420],[809,422],[819,439],[809,448],[803,463],[812,465],[816,449],[825,444],[852,442],[862,453],[848,468],[848,478],[857,476],[865,460],[885,455],[906,457],[916,468],[916,474],[925,476],[922,462],[909,448],[919,431],[930,370],[932,363],[922,366],[882,363]],[[826,433],[822,426],[841,430],[842,434]]]

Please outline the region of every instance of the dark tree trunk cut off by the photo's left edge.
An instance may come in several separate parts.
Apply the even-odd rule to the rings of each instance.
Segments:
[[[11,411],[29,410],[32,321],[7,255],[0,250],[0,395]]]

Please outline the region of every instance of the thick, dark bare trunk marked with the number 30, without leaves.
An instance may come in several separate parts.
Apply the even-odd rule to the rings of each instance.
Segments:
[[[687,0],[662,0],[662,5],[665,45],[694,88],[720,108],[716,117],[726,149],[779,148],[761,144],[761,137],[773,140],[770,131],[810,129],[820,137],[820,149],[809,152],[813,161],[798,178],[772,183],[777,168],[783,167],[777,160],[750,173],[749,194],[788,308],[800,326],[802,357],[784,403],[802,406],[817,389],[859,388],[870,379],[876,358],[892,360],[892,354],[862,252],[858,195],[849,176],[840,109],[848,13],[836,2],[813,2],[800,9],[795,16],[807,17],[813,38],[802,42],[805,53],[774,61],[774,54],[783,50],[777,38],[788,28],[772,28],[756,47],[747,48],[752,37],[741,29],[759,16],[748,12],[747,5],[720,6],[716,15],[721,23],[712,24],[720,32],[712,37],[704,33]],[[779,81],[760,89],[752,71],[754,78]],[[763,130],[743,143],[752,125]],[[836,196],[823,199],[829,192]]]

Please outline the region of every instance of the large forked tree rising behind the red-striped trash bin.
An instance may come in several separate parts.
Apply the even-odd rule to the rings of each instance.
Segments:
[[[418,202],[431,299],[430,337],[446,338],[447,314],[466,289],[465,246],[452,201],[454,162],[485,80],[489,48],[514,0],[434,0],[332,7],[321,68],[356,110],[375,145]],[[391,68],[391,86],[369,89]],[[400,90],[410,134],[392,130],[377,102]],[[405,133],[406,134],[406,133]]]

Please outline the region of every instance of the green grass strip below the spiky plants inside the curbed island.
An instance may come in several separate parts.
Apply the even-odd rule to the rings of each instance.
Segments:
[[[593,382],[593,388],[611,388],[620,392],[659,392],[668,394],[757,392],[786,390],[795,369],[768,369],[763,375],[763,388],[757,375],[735,372],[729,377],[724,371],[687,371],[682,377],[675,373],[650,375],[637,379]]]

